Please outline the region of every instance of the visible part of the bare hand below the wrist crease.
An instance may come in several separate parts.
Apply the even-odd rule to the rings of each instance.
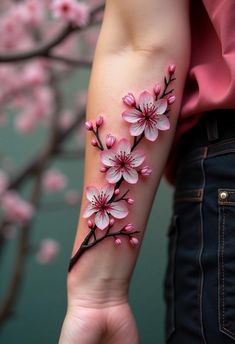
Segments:
[[[59,344],[138,344],[135,318],[127,302],[98,308],[72,306]]]

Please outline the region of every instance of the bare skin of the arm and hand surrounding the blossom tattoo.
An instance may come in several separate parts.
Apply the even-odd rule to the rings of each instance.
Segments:
[[[129,124],[122,119],[126,109],[122,96],[143,90],[152,92],[162,84],[169,64],[177,66],[174,82],[177,100],[171,106],[171,129],[160,132],[155,142],[143,140],[145,164],[153,172],[128,185],[135,203],[120,226],[131,222],[141,231],[142,241],[153,199],[171,148],[190,59],[188,0],[107,0],[88,89],[87,120],[104,117],[102,140],[108,133],[130,139]],[[85,187],[100,187],[105,179],[99,172],[100,156],[91,146],[87,132],[84,190],[72,255],[88,233],[87,220],[81,216],[87,201]],[[126,184],[121,186],[126,190]],[[137,344],[138,330],[128,304],[128,288],[140,246],[128,240],[114,247],[106,239],[84,253],[68,274],[68,308],[59,344]]]

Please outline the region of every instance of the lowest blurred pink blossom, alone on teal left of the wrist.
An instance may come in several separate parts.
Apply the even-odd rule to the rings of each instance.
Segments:
[[[41,241],[36,259],[40,264],[47,264],[55,260],[59,253],[59,243],[54,239],[44,239]]]

